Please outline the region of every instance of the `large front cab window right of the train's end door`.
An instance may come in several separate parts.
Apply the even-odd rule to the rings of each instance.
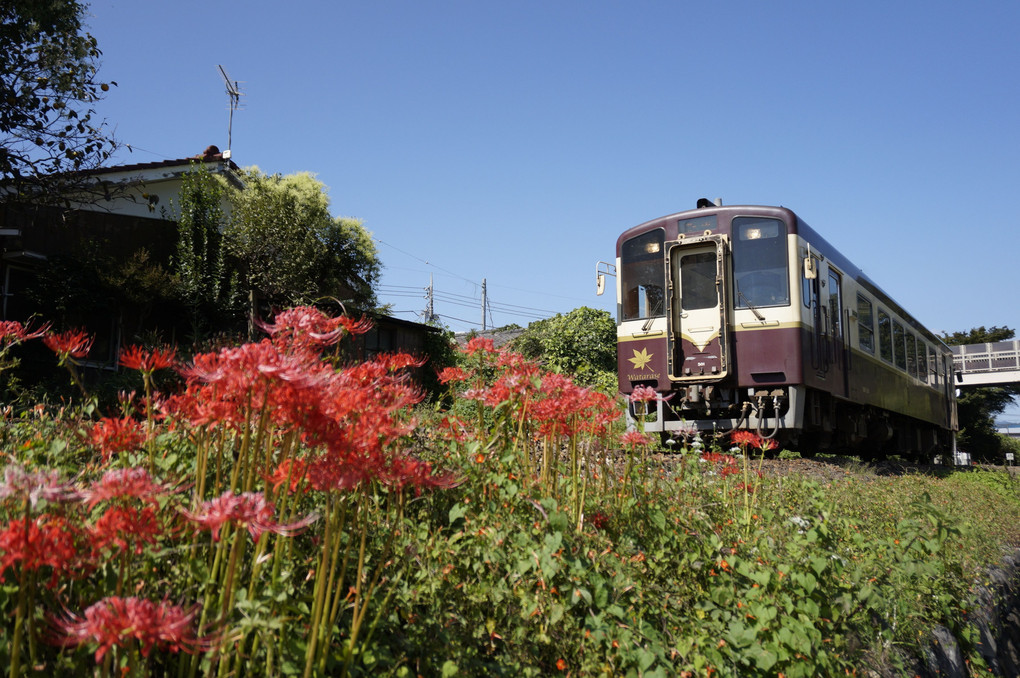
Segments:
[[[778,219],[738,216],[732,223],[733,306],[789,304],[786,225]]]

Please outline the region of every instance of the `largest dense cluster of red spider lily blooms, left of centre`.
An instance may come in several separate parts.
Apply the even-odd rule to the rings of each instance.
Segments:
[[[413,464],[401,466],[396,452],[414,426],[405,413],[423,397],[406,372],[419,364],[396,354],[338,371],[307,351],[289,354],[264,340],[196,356],[183,370],[191,382],[187,393],[169,407],[193,424],[225,423],[239,431],[266,413],[267,425],[299,432],[307,447],[326,451],[313,453],[313,487],[342,489],[376,479],[400,485],[405,475],[415,486],[428,485],[432,481],[422,480]]]

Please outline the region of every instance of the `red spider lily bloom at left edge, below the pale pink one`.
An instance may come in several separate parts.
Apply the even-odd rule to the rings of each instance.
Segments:
[[[78,569],[76,541],[74,530],[58,516],[39,516],[28,527],[24,520],[10,521],[0,531],[0,581],[7,568],[17,564],[30,571],[52,568],[50,586],[55,586],[60,574]]]

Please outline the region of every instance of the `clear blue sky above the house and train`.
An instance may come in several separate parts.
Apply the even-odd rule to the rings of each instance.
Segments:
[[[1020,330],[1020,3],[95,0],[134,153],[311,171],[381,301],[455,330],[579,306],[622,230],[797,211],[934,330]]]

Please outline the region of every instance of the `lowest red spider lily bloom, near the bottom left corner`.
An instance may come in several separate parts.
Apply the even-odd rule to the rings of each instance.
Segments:
[[[110,648],[129,647],[136,642],[143,657],[148,657],[154,647],[194,654],[211,645],[209,638],[195,635],[192,622],[199,610],[197,605],[185,610],[165,601],[153,603],[111,595],[90,607],[82,617],[70,612],[51,617],[54,634],[50,640],[64,647],[99,643],[96,664],[103,661]]]

